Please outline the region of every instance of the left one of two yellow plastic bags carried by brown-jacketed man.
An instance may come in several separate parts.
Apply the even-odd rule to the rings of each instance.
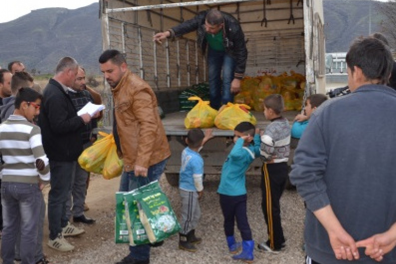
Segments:
[[[112,140],[114,141],[113,134],[100,133],[100,135],[104,137],[86,148],[78,158],[78,163],[87,172],[102,173],[104,160],[107,157]]]

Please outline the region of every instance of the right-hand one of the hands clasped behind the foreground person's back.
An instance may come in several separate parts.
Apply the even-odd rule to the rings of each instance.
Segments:
[[[391,231],[382,234],[376,234],[365,240],[356,243],[358,248],[366,248],[365,254],[376,261],[383,260],[383,256],[394,249],[396,238],[392,237]]]

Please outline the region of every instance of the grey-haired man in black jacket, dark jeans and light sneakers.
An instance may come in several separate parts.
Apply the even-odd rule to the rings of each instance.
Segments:
[[[75,236],[84,232],[71,225],[66,217],[71,178],[82,153],[81,132],[85,124],[91,121],[89,114],[77,116],[76,107],[67,95],[67,87],[73,86],[77,70],[78,64],[73,58],[64,57],[58,62],[55,76],[44,89],[39,115],[43,146],[51,173],[48,246],[59,251],[74,249],[63,236]]]

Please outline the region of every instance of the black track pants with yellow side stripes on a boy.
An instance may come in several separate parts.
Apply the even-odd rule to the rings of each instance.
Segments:
[[[289,170],[287,168],[287,162],[266,164],[269,180],[266,182],[264,166],[261,177],[261,207],[264,213],[265,223],[267,224],[268,241],[271,241],[271,237],[273,236],[273,249],[280,250],[282,243],[285,242],[280,218],[280,197],[283,194]],[[271,193],[271,196],[269,196],[269,193]],[[267,202],[269,210],[267,210]],[[268,221],[268,215],[271,216],[271,221]]]

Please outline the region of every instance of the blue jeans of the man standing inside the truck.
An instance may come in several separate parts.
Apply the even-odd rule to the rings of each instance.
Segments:
[[[212,108],[219,109],[223,104],[233,101],[231,82],[234,79],[234,69],[235,60],[229,54],[208,47],[209,94]]]

